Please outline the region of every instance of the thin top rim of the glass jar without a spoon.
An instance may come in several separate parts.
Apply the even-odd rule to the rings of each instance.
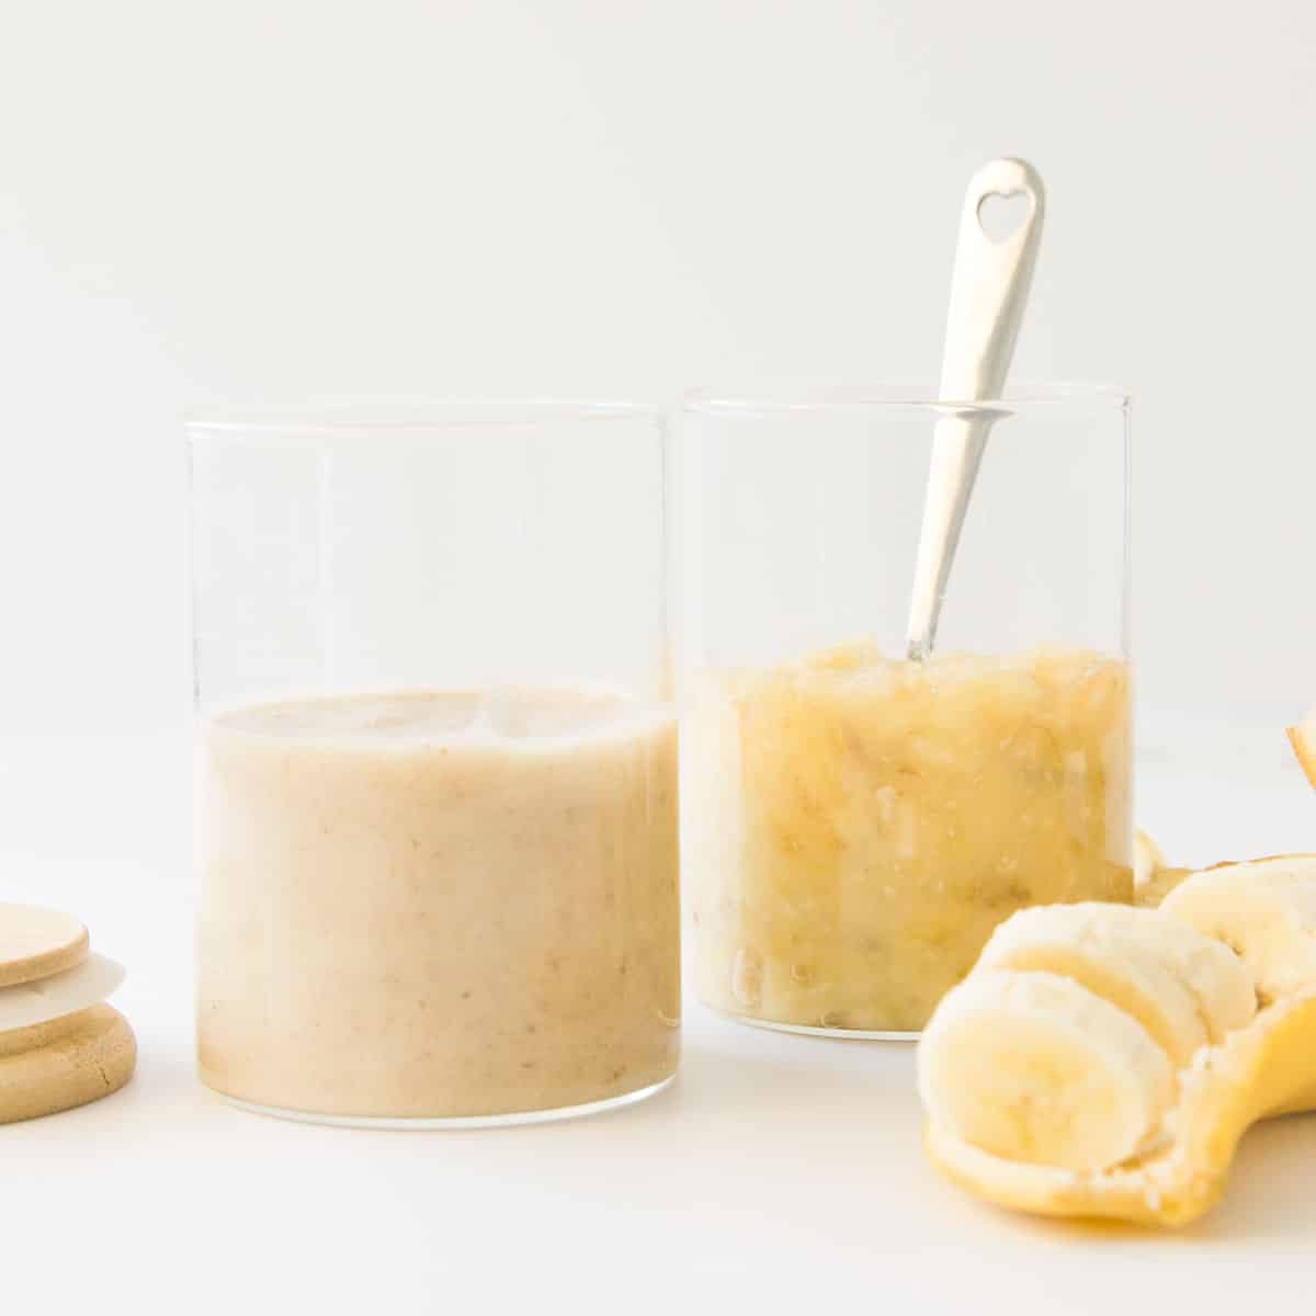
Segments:
[[[183,428],[190,437],[207,434],[230,438],[329,436],[367,430],[404,434],[471,426],[525,428],[567,421],[662,424],[667,413],[669,408],[658,403],[620,399],[376,399],[193,407],[183,413]]]

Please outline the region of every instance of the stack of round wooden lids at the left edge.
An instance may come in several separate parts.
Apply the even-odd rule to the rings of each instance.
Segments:
[[[117,1092],[137,1038],[105,1004],[124,970],[68,915],[0,904],[0,1124]]]

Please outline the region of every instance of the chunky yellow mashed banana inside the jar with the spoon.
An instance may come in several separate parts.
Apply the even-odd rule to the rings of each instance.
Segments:
[[[699,991],[811,1028],[921,1028],[1033,904],[1128,901],[1125,663],[854,645],[705,672],[688,721]]]

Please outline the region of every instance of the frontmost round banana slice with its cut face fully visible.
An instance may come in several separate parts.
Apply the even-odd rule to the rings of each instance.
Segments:
[[[1155,1137],[1170,1061],[1117,1005],[1050,973],[975,971],[919,1044],[929,1120],[1005,1161],[1101,1170]]]

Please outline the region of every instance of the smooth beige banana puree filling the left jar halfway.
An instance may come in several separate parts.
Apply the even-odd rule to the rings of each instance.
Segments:
[[[203,1080],[447,1119],[675,1071],[676,730],[620,696],[312,699],[203,738]]]

